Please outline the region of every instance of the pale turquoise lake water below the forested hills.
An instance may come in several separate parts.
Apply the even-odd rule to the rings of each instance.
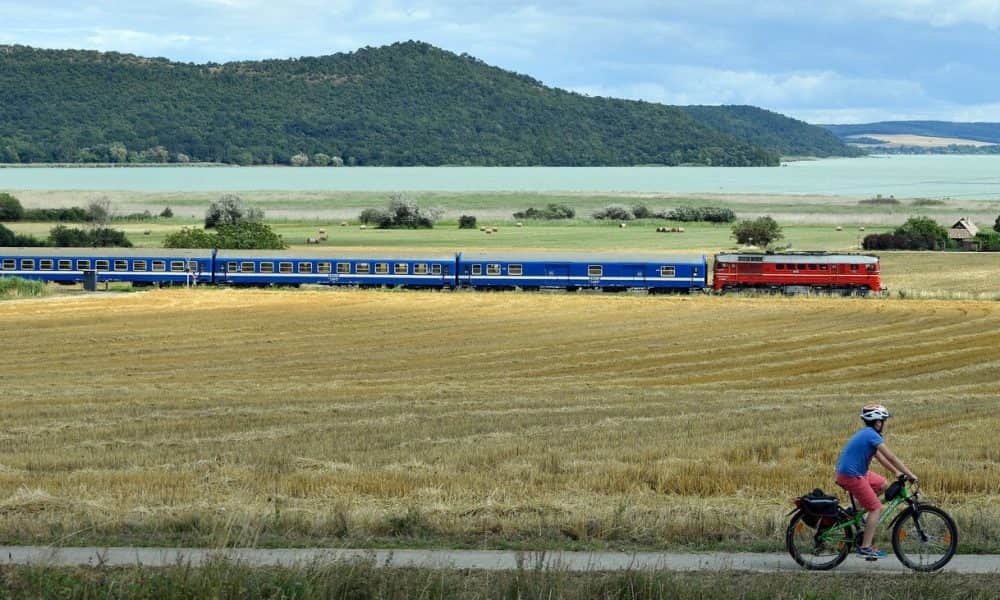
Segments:
[[[1000,156],[871,156],[722,167],[3,168],[0,190],[566,191],[1000,199]]]

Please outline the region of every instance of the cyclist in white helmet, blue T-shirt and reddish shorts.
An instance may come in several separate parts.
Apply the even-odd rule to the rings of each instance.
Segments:
[[[858,555],[865,558],[886,556],[885,552],[872,546],[878,518],[882,514],[882,503],[878,495],[885,489],[885,477],[868,470],[872,458],[892,471],[896,477],[902,474],[912,481],[917,480],[913,471],[907,469],[903,461],[889,450],[882,438],[885,422],[890,416],[889,411],[881,404],[866,404],[861,409],[861,420],[865,422],[865,426],[848,440],[837,461],[837,485],[853,494],[868,511],[865,534],[858,546]]]

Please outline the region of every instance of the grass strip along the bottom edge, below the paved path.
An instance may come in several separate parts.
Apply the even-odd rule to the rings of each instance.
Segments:
[[[0,567],[0,595],[31,598],[993,598],[1000,575],[619,571],[571,573],[379,568],[374,561],[291,567]]]

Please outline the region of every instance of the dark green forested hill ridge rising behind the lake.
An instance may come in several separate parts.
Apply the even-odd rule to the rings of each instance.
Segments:
[[[8,163],[744,166],[851,152],[786,121],[586,97],[418,42],[205,65],[0,46]]]

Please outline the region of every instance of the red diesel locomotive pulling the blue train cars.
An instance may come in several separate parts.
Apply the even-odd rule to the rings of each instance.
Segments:
[[[719,293],[760,290],[772,293],[881,293],[877,256],[784,252],[716,254],[712,288]]]

